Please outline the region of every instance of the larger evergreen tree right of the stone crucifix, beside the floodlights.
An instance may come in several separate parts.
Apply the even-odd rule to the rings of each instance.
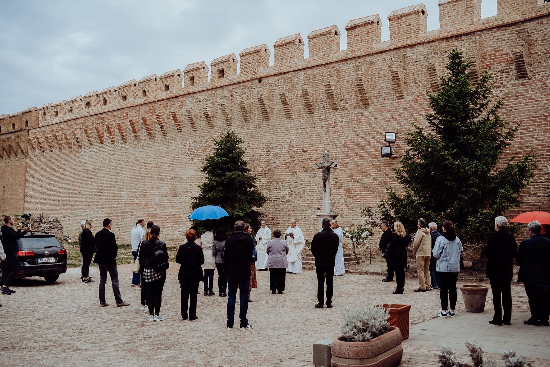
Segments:
[[[395,169],[403,191],[387,189],[378,209],[383,220],[403,222],[416,231],[418,218],[441,225],[452,221],[464,243],[484,243],[494,231],[494,217],[521,204],[519,193],[533,177],[531,149],[519,159],[502,162],[519,123],[508,129],[498,115],[500,99],[491,105],[491,75],[471,85],[469,64],[458,50],[447,54],[448,75],[435,95],[426,92],[433,113],[430,130],[412,124],[409,149]]]

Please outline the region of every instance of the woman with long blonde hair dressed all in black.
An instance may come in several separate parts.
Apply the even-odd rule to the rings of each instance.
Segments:
[[[392,240],[386,248],[386,253],[389,253],[389,266],[395,271],[395,281],[397,287],[393,294],[403,294],[405,289],[405,266],[407,265],[407,246],[411,243],[410,235],[405,231],[403,223],[393,223],[394,233]]]

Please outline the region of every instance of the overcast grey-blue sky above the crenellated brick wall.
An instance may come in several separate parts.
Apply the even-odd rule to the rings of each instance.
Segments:
[[[0,0],[0,114],[40,107],[150,74],[273,43],[350,19],[388,14],[417,0],[389,1],[8,1]],[[425,0],[428,30],[437,0]],[[482,1],[482,17],[496,14]],[[307,47],[305,50],[307,57]],[[273,64],[273,54],[271,56]]]

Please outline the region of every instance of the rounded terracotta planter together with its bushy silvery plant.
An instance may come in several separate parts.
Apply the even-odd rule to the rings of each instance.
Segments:
[[[332,367],[393,367],[403,357],[401,332],[381,306],[360,302],[343,310],[342,336],[332,343]]]

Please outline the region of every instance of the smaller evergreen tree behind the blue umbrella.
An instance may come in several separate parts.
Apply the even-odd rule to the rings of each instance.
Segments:
[[[217,221],[217,226],[232,230],[233,223],[241,220],[259,228],[263,215],[255,208],[262,207],[268,198],[256,187],[260,178],[249,174],[250,168],[244,160],[245,149],[241,146],[243,139],[226,129],[219,139],[214,139],[214,143],[216,147],[212,155],[201,167],[206,178],[199,186],[199,196],[191,198],[191,210],[217,205],[229,214],[229,217]]]

